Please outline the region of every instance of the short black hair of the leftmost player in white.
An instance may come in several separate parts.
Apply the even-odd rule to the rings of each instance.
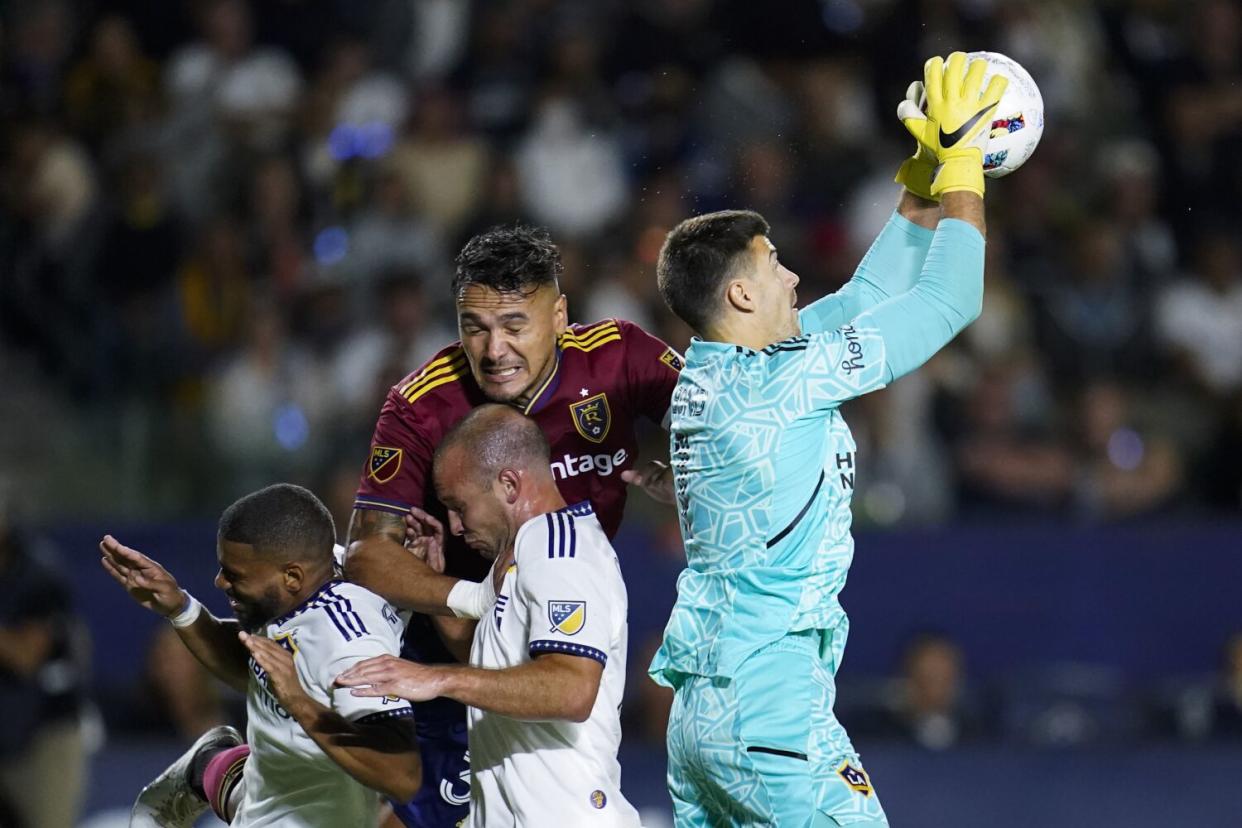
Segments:
[[[270,559],[330,564],[337,528],[332,513],[310,490],[277,483],[225,509],[217,540],[248,544]]]

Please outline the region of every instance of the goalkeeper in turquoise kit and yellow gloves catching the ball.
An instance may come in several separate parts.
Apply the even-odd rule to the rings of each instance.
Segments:
[[[651,664],[674,688],[676,824],[887,826],[832,714],[848,619],[854,442],[838,406],[913,371],[974,320],[984,287],[982,144],[1005,88],[932,58],[898,115],[918,151],[854,277],[795,308],[768,223],[678,225],[660,290],[698,334],[673,392],[687,569]],[[925,101],[924,113],[920,104]]]

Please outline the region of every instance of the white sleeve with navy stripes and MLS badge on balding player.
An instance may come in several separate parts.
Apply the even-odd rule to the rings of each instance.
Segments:
[[[599,524],[584,524],[569,511],[550,511],[523,538],[518,590],[530,610],[532,658],[564,653],[607,665],[617,634],[620,570]]]

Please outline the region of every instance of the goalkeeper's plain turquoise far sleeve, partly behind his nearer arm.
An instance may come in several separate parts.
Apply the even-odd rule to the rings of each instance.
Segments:
[[[799,312],[802,333],[836,330],[864,310],[909,290],[919,278],[934,235],[894,210],[850,281]]]

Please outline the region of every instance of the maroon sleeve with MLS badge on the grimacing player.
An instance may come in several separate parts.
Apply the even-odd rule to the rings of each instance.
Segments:
[[[431,459],[438,437],[436,423],[420,426],[419,412],[396,389],[389,391],[375,422],[371,449],[363,467],[355,509],[404,515],[426,503]]]

